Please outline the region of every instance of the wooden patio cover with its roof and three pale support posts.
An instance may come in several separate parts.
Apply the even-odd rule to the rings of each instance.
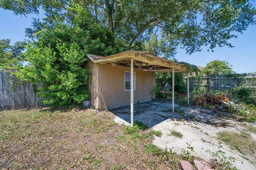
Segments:
[[[90,55],[87,56],[94,62],[100,64],[112,64],[112,66],[120,65],[131,68],[131,82],[134,80],[133,68],[138,68],[143,71],[152,72],[172,72],[172,112],[174,112],[174,72],[187,72],[187,66],[185,64],[180,64],[174,61],[165,59],[164,57],[157,57],[150,52],[143,51],[125,51],[123,53],[118,53],[115,55],[110,55],[107,57]],[[188,76],[188,73],[187,73]],[[187,79],[187,81],[189,81]],[[188,86],[188,82],[187,82]],[[133,110],[134,110],[134,87],[131,83],[130,90],[130,105],[131,105],[131,127],[133,126]],[[189,104],[189,86],[188,86],[188,104]]]

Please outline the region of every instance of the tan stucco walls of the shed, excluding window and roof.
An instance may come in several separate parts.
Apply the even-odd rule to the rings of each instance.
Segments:
[[[124,90],[124,74],[129,67],[112,66],[111,64],[92,65],[92,106],[96,109],[130,104],[130,91]],[[136,90],[134,103],[151,100],[152,86],[155,85],[154,72],[144,72],[134,68],[136,72]]]

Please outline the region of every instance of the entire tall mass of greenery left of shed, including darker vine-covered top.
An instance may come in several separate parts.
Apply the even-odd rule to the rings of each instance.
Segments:
[[[42,82],[37,93],[51,107],[80,105],[90,99],[90,70],[82,66],[86,53],[106,56],[120,52],[109,29],[91,21],[80,6],[72,10],[76,11],[72,26],[58,24],[35,34],[38,41],[28,45],[25,53],[30,65],[17,73],[33,84]]]

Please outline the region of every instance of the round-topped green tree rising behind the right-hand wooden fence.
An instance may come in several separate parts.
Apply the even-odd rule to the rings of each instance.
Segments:
[[[202,73],[206,76],[210,75],[226,75],[233,74],[232,65],[226,61],[214,60],[206,64],[206,67],[203,68]]]

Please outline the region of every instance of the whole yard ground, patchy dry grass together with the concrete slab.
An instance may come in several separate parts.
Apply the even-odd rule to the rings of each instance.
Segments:
[[[141,130],[126,126],[129,106],[2,111],[0,169],[179,170],[179,160],[193,163],[200,157],[210,162],[218,141],[227,157],[234,156],[238,169],[256,169],[256,125],[214,109],[176,104],[172,113],[170,108],[168,102],[136,104],[134,121],[151,127]]]

